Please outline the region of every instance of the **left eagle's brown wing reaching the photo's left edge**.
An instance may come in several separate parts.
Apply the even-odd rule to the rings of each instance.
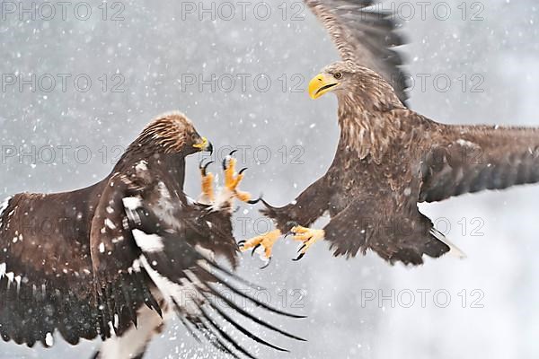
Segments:
[[[18,344],[52,346],[97,336],[91,202],[99,185],[55,195],[19,194],[0,206],[0,334]]]

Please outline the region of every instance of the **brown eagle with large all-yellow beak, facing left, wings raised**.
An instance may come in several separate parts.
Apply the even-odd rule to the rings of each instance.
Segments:
[[[335,256],[374,250],[392,264],[420,265],[424,255],[437,258],[455,247],[420,213],[418,203],[539,181],[537,129],[450,126],[407,109],[402,93],[386,81],[387,71],[378,74],[374,70],[380,67],[368,68],[371,64],[365,61],[380,51],[358,29],[378,21],[388,24],[384,16],[366,24],[358,2],[307,4],[343,58],[309,83],[313,99],[327,92],[337,96],[337,153],[327,173],[292,204],[266,204],[262,212],[278,229],[243,242],[243,250],[263,250],[262,257],[269,259],[275,241],[290,233],[303,242],[296,259],[325,239]],[[384,38],[390,29],[372,31]],[[308,228],[326,212],[331,221],[323,230]]]

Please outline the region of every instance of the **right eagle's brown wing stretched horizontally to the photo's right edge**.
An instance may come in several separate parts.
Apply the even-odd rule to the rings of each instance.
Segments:
[[[539,181],[539,130],[526,127],[446,126],[420,164],[420,202]]]

